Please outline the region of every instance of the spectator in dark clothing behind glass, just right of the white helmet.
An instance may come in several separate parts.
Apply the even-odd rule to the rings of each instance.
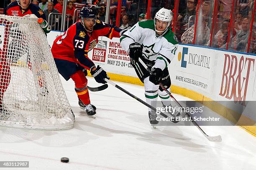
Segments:
[[[178,16],[178,20],[181,20],[181,25],[188,23],[189,17],[196,15],[195,0],[187,0],[187,9],[183,10]]]

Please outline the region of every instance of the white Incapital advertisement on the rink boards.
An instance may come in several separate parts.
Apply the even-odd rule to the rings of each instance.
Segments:
[[[214,50],[179,45],[169,67],[172,84],[210,93],[214,60]]]

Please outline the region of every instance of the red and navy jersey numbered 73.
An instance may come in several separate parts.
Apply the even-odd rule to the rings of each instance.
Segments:
[[[87,53],[98,43],[99,36],[112,39],[120,37],[121,29],[96,20],[92,32],[87,32],[78,21],[71,25],[63,35],[54,40],[51,52],[54,58],[79,63],[82,67],[90,70],[95,64],[89,59]]]

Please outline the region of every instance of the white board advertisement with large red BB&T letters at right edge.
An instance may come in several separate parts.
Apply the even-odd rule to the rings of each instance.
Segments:
[[[217,67],[213,95],[219,100],[233,100],[241,105],[256,100],[255,56],[216,50]]]

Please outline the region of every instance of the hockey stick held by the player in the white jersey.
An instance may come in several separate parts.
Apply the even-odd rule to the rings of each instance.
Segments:
[[[139,58],[139,61],[141,62],[141,64],[143,65],[143,67],[145,67],[148,72],[152,75],[153,72],[151,71],[151,69],[141,60],[141,58]],[[159,85],[164,89],[164,91],[174,99],[174,101],[180,106],[182,107],[182,105],[179,104],[179,102],[173,97],[173,95],[171,94],[171,92],[169,92],[165,87],[164,85],[162,85],[162,83],[160,82]],[[205,131],[202,130],[202,128],[200,128],[200,126],[192,119],[192,117],[189,115],[188,112],[186,112],[186,114],[188,117],[189,117],[189,120],[191,120],[191,122],[197,126],[197,128],[200,130],[200,132],[205,136],[205,138],[207,138],[209,141],[211,142],[221,142],[221,136],[218,135],[218,136],[209,136],[205,133]]]

